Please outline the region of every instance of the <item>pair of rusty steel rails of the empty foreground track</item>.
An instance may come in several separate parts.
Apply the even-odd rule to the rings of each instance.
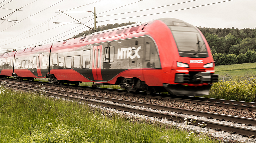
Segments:
[[[24,87],[16,87],[13,85],[9,85],[11,87],[15,87],[15,88],[20,88],[24,90]],[[26,85],[27,86],[27,85]],[[31,88],[31,87],[28,87]],[[46,88],[45,88],[46,89]],[[42,91],[40,89],[36,89],[37,91]],[[47,89],[47,90],[53,90],[53,89]],[[143,106],[150,106],[150,108],[154,108],[157,107],[158,109],[164,109],[167,111],[171,110],[176,110],[176,111],[183,111],[183,112],[188,112],[188,113],[196,113],[197,111],[193,111],[193,110],[182,110],[182,109],[178,109],[178,108],[172,108],[172,107],[168,107],[168,106],[159,106],[159,105],[154,105],[154,104],[145,104],[145,103],[140,103],[140,102],[132,102],[132,101],[126,101],[126,100],[118,100],[118,99],[112,99],[112,98],[106,98],[106,97],[98,97],[98,96],[93,96],[93,95],[85,95],[85,94],[78,94],[78,93],[74,93],[74,92],[68,92],[68,91],[62,91],[62,90],[53,90],[55,92],[59,92],[62,94],[70,94],[70,95],[76,95],[76,96],[83,96],[83,97],[89,97],[89,98],[98,98],[101,100],[110,100],[113,102],[119,101],[120,102],[125,102],[126,104],[134,104],[134,105],[143,105]],[[59,93],[53,93],[53,92],[48,92],[45,91],[45,94],[51,95],[51,96],[58,96],[58,97],[62,97],[62,98],[66,98],[66,99],[70,99],[70,100],[77,100],[77,101],[81,101],[81,102],[87,102],[90,104],[94,104],[94,105],[100,105],[100,106],[106,106],[106,107],[110,107],[110,108],[115,108],[118,110],[123,110],[123,111],[127,111],[127,112],[136,112],[138,114],[144,114],[147,116],[154,116],[154,117],[158,117],[158,118],[166,118],[166,119],[170,119],[173,121],[177,121],[177,122],[182,122],[184,121],[183,119],[185,118],[185,116],[178,116],[178,115],[174,115],[174,114],[166,114],[166,113],[159,113],[159,112],[154,112],[154,111],[148,111],[148,110],[142,110],[142,109],[135,109],[135,108],[130,108],[130,107],[126,107],[126,106],[121,106],[121,105],[116,105],[116,104],[111,104],[111,103],[104,103],[104,102],[98,102],[98,101],[93,101],[90,99],[84,99],[84,98],[80,98],[80,97],[71,97],[68,95],[61,95]],[[173,111],[172,111],[173,112]],[[199,114],[208,114],[207,112],[198,112]],[[197,114],[198,114],[197,113]],[[211,113],[211,115],[218,115],[218,114],[214,114]],[[221,114],[219,114],[221,115]],[[222,117],[224,117],[226,115],[222,115]],[[249,119],[249,118],[243,118],[243,117],[235,117],[235,116],[227,116],[227,118],[232,118],[232,119],[241,119],[237,122],[245,122],[245,123],[252,123],[253,125],[255,125],[256,120],[255,119]],[[190,118],[193,119],[193,118]],[[226,125],[226,124],[220,124],[220,123],[216,123],[216,122],[212,122],[212,121],[207,121],[207,120],[200,120],[200,119],[193,119],[194,121],[196,121],[194,124],[201,124],[202,122],[205,122],[207,125],[206,127],[211,128],[211,129],[218,129],[218,130],[222,130],[222,131],[226,131],[226,132],[232,132],[232,133],[237,133],[237,134],[241,134],[241,135],[246,135],[246,136],[251,136],[251,135],[255,135],[256,136],[256,130],[253,129],[248,129],[248,128],[242,128],[242,127],[235,127],[235,126],[231,126],[231,125]]]

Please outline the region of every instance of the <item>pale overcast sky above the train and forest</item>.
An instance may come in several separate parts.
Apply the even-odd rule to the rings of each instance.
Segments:
[[[0,0],[0,53],[89,30],[93,13],[87,11],[94,7],[96,26],[171,17],[201,27],[254,29],[255,5],[256,0]]]

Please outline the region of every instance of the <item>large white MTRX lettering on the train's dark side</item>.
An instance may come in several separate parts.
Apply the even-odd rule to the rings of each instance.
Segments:
[[[128,59],[128,58],[139,58],[140,59],[140,55],[138,54],[139,50],[141,49],[141,46],[139,46],[137,49],[135,47],[130,47],[130,48],[121,48],[121,49],[117,49],[117,59]],[[135,52],[135,54],[132,56],[131,53],[132,51]]]

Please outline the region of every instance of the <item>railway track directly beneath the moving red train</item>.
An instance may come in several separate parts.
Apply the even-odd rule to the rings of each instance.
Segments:
[[[4,80],[9,81],[16,81],[15,79],[7,79],[2,78]],[[32,81],[23,81],[28,83],[35,83]],[[49,82],[36,82],[40,84],[52,85]],[[130,96],[137,96],[137,97],[148,97],[152,99],[163,99],[169,101],[179,101],[184,103],[194,103],[194,104],[203,104],[203,105],[211,105],[211,106],[218,106],[218,107],[226,107],[232,109],[241,109],[241,110],[248,110],[248,111],[256,111],[256,103],[254,102],[244,102],[244,101],[233,101],[233,100],[224,100],[224,99],[213,99],[213,98],[202,98],[202,97],[193,97],[193,96],[174,96],[169,94],[154,94],[151,96],[146,95],[144,92],[140,92],[139,94],[136,93],[127,93],[126,90],[120,89],[108,89],[108,88],[99,88],[99,87],[89,87],[89,86],[75,86],[75,85],[54,85],[54,86],[63,86],[69,87],[74,89],[86,89],[91,91],[100,91],[100,92],[110,92],[110,93],[117,93],[121,95],[130,95]]]

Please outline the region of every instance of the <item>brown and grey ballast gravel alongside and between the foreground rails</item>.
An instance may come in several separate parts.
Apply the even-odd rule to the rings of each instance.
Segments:
[[[0,81],[2,82],[4,80],[0,79]],[[193,104],[193,103],[167,101],[167,100],[161,100],[161,99],[152,99],[152,98],[149,99],[147,97],[146,98],[133,97],[133,96],[127,96],[127,95],[113,94],[113,93],[110,94],[110,93],[104,93],[104,92],[89,91],[86,89],[78,90],[78,89],[59,87],[59,86],[54,86],[54,85],[41,85],[41,84],[38,85],[38,84],[31,84],[31,83],[20,82],[20,81],[12,81],[12,82],[19,83],[19,84],[38,86],[40,88],[52,88],[52,89],[57,89],[57,90],[66,90],[66,91],[70,91],[70,92],[78,92],[78,93],[82,93],[82,94],[90,94],[90,95],[103,96],[103,97],[108,97],[108,98],[116,98],[116,99],[129,100],[129,101],[135,101],[135,102],[143,102],[143,103],[157,104],[157,105],[163,105],[163,106],[171,106],[171,107],[176,107],[176,108],[198,110],[198,111],[204,111],[204,112],[211,112],[211,113],[218,113],[218,114],[225,114],[225,115],[232,115],[232,116],[256,119],[256,112],[247,111],[247,110],[230,109],[230,108],[216,107],[216,106],[202,105],[202,104],[198,105],[198,104]],[[90,99],[90,100],[96,100],[96,99]],[[101,102],[102,102],[102,100],[101,100]],[[104,102],[109,102],[109,101],[104,101]],[[120,103],[116,103],[116,104],[120,104]],[[121,104],[121,105],[124,106],[125,104]],[[95,106],[95,105],[91,105],[91,106]],[[162,113],[167,112],[167,111],[154,110],[154,109],[139,107],[139,106],[136,107],[136,106],[127,105],[127,104],[126,104],[126,106],[130,106],[132,108],[142,108],[143,110],[152,110],[152,111],[157,111],[157,112],[162,112]],[[100,106],[95,106],[95,107],[101,108],[102,110],[108,110],[111,112],[124,114],[126,116],[130,116],[130,117],[134,117],[134,118],[143,118],[143,119],[151,120],[152,122],[160,122],[160,123],[164,123],[167,125],[173,125],[181,130],[183,130],[183,129],[184,130],[196,130],[197,132],[208,133],[208,134],[212,135],[213,137],[218,137],[222,142],[256,143],[256,139],[254,139],[254,138],[247,138],[247,137],[243,137],[242,135],[230,134],[230,133],[223,132],[223,131],[214,131],[207,127],[200,128],[199,126],[188,125],[188,123],[177,123],[177,122],[173,122],[173,121],[168,121],[167,119],[148,117],[148,116],[144,116],[144,115],[139,115],[137,113],[118,111],[118,110],[115,110],[112,108],[105,108],[105,107],[100,107]],[[168,114],[177,114],[177,113],[168,112]],[[194,119],[204,119],[204,120],[209,120],[209,121],[218,121],[216,119],[207,119],[205,117],[197,117],[197,116],[191,116],[191,115],[185,115],[185,114],[177,114],[177,115],[184,116],[184,117],[190,118],[190,119],[194,118]],[[241,126],[241,127],[250,128],[250,129],[256,129],[255,126],[246,126],[244,124],[237,124],[237,123],[232,124],[231,122],[227,122],[227,121],[218,121],[218,123],[229,124],[229,125],[233,125],[233,126]]]

